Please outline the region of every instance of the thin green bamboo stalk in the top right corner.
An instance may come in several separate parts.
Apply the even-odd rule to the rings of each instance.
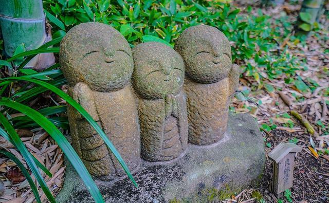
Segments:
[[[297,35],[307,35],[318,20],[318,14],[323,6],[323,0],[304,0],[297,22]]]

